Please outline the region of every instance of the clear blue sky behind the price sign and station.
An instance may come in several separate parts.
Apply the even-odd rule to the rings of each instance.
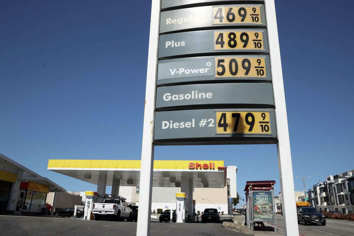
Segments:
[[[294,175],[307,189],[353,164],[352,1],[276,0]],[[140,159],[150,1],[0,1],[0,152],[67,190],[48,159]],[[158,146],[276,180],[276,145]],[[303,188],[295,179],[295,189]],[[107,189],[109,191],[109,188]],[[108,192],[107,191],[107,192]]]

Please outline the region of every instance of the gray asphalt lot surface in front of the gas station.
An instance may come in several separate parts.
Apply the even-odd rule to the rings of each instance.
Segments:
[[[95,221],[63,217],[28,217],[0,215],[1,236],[27,235],[122,235],[135,236],[136,222]],[[246,236],[222,229],[222,224],[177,224],[152,221],[150,235],[152,236]]]

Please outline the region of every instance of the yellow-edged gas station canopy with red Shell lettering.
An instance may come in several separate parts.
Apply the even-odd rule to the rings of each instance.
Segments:
[[[140,160],[49,160],[48,170],[98,185],[99,173],[107,172],[107,185],[139,186]],[[224,188],[224,161],[154,161],[153,186],[180,187],[182,176],[193,175],[195,188]]]

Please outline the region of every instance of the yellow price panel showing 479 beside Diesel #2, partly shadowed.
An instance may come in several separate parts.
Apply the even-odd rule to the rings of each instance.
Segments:
[[[218,111],[216,133],[271,134],[269,112]]]

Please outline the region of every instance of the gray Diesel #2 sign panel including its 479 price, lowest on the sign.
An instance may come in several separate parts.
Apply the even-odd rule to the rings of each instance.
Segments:
[[[276,138],[274,109],[160,111],[155,112],[154,122],[155,141]]]

